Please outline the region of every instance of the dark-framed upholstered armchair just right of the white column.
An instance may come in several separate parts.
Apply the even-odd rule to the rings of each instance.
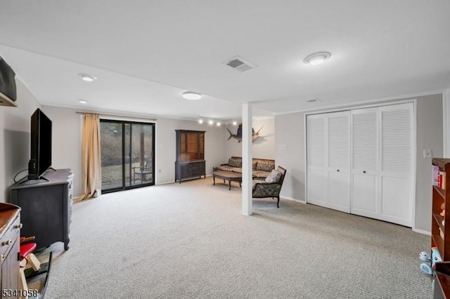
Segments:
[[[286,174],[285,168],[278,166],[276,170],[273,170],[266,180],[253,180],[253,198],[271,197],[278,200],[276,207],[279,208],[280,204],[280,191],[283,186],[283,180]]]

